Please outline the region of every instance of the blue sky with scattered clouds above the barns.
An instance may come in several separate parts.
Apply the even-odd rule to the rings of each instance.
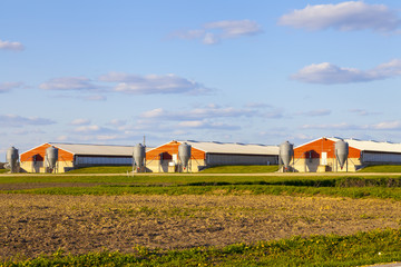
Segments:
[[[401,142],[399,0],[0,0],[0,155],[144,136]]]

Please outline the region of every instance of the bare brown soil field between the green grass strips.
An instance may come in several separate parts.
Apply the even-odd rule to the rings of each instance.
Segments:
[[[216,192],[218,194],[218,192]],[[401,202],[286,196],[0,195],[0,258],[224,246],[399,228]]]

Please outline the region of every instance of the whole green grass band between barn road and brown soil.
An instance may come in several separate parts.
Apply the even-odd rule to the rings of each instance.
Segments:
[[[19,184],[27,185],[30,182],[35,182],[36,188],[21,187],[19,189]],[[88,182],[94,185],[88,185]],[[4,184],[14,185],[13,190],[1,190],[1,185]],[[61,186],[60,184],[71,184],[74,187]],[[0,194],[321,195],[399,200],[401,199],[401,176],[2,176],[0,177]]]

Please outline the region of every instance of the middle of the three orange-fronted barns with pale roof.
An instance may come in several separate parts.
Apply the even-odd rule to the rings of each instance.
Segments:
[[[173,140],[146,152],[146,168],[154,172],[183,171],[178,155],[182,144],[190,146],[190,171],[218,165],[278,164],[278,146]]]

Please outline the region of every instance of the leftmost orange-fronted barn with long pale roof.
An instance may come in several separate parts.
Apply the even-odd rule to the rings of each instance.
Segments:
[[[133,165],[134,147],[130,146],[46,142],[21,154],[21,169],[27,172],[48,172],[47,149],[51,147],[58,150],[56,172],[88,166]]]

